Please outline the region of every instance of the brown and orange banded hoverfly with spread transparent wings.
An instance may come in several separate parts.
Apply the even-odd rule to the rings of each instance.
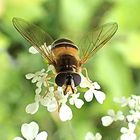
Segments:
[[[80,72],[85,64],[116,33],[117,23],[107,23],[84,35],[77,47],[71,40],[53,40],[38,26],[21,18],[13,18],[17,31],[48,61],[56,70],[55,83],[64,87],[64,94],[74,93],[81,82]]]

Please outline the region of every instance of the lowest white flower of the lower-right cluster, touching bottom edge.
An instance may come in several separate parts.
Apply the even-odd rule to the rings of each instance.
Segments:
[[[128,123],[128,128],[122,127],[121,128],[121,140],[136,140],[136,134],[134,133],[135,131],[135,124],[133,123]]]

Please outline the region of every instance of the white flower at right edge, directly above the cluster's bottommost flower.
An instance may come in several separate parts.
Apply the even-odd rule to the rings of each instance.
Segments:
[[[127,115],[126,118],[129,122],[138,122],[140,120],[140,112],[130,110],[129,111],[131,115]]]

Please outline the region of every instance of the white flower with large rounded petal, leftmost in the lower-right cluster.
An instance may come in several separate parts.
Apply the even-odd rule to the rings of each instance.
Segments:
[[[122,111],[118,111],[116,114],[114,110],[110,109],[108,110],[108,116],[104,116],[101,118],[103,126],[109,126],[112,124],[113,121],[117,120],[124,120],[124,115]]]

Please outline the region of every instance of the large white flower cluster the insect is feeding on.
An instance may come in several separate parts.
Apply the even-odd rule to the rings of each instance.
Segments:
[[[36,83],[35,100],[33,103],[26,106],[26,112],[34,114],[38,111],[39,105],[43,105],[49,112],[59,111],[59,117],[62,121],[72,119],[72,111],[69,105],[74,105],[80,109],[84,101],[80,99],[80,92],[74,94],[64,95],[62,87],[58,87],[53,81],[52,77],[55,77],[55,70],[52,65],[49,65],[48,70],[42,69],[36,73],[29,73],[26,75],[26,79],[31,80],[32,83]],[[97,82],[88,80],[81,74],[80,88],[86,88],[87,91],[84,94],[85,101],[90,102],[93,97],[102,104],[105,100],[105,94],[99,91],[100,86]],[[44,93],[42,95],[42,93]]]

